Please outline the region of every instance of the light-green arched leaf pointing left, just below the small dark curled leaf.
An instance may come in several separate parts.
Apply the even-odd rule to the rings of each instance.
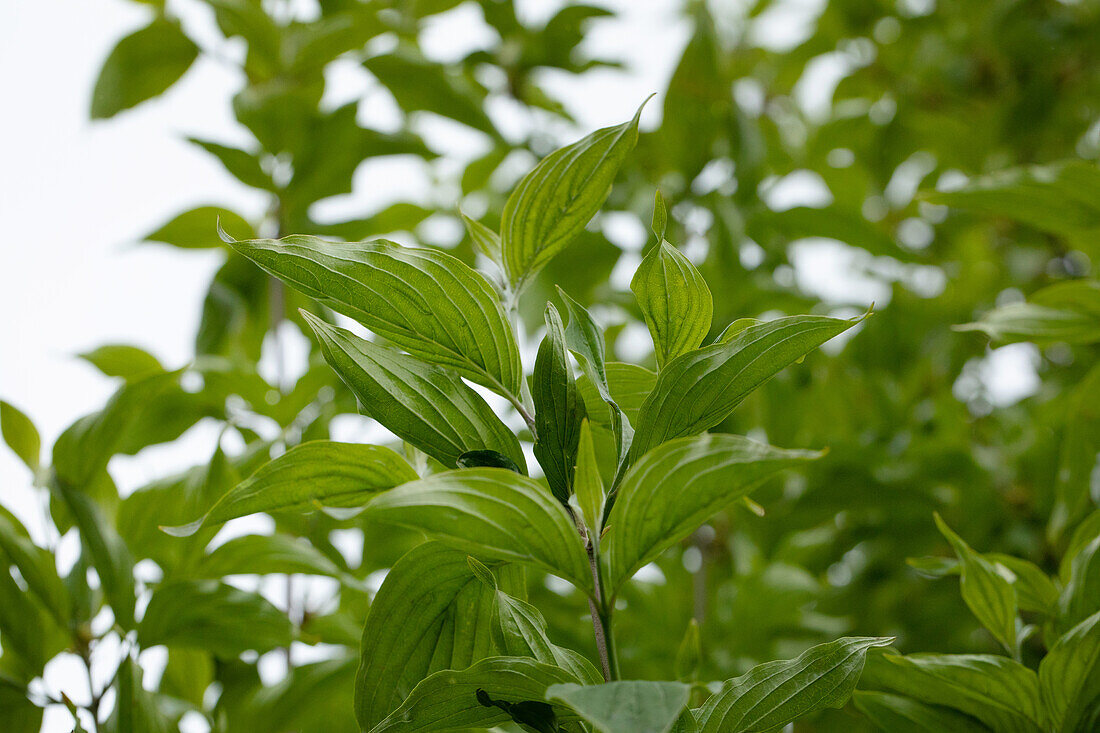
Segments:
[[[437,473],[380,494],[366,512],[479,558],[535,565],[592,593],[588,559],[565,508],[513,471]]]

